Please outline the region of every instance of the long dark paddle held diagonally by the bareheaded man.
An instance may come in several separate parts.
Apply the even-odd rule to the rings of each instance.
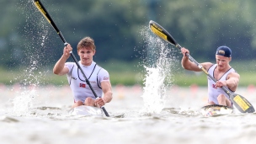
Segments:
[[[34,0],[35,6],[36,8],[39,9],[40,13],[42,13],[45,17],[45,19],[47,19],[47,21],[49,22],[49,24],[51,24],[51,26],[56,30],[57,34],[60,36],[61,40],[63,41],[64,45],[66,46],[68,43],[65,40],[64,36],[61,34],[61,31],[58,29],[58,27],[56,26],[56,24],[54,23],[54,21],[51,19],[50,14],[46,11],[45,7],[43,6],[42,3],[40,3],[40,0]],[[89,88],[92,90],[93,95],[95,96],[95,98],[98,98],[98,95],[95,93],[91,83],[88,80],[88,77],[86,77],[86,75],[83,72],[82,67],[80,67],[77,58],[74,56],[74,54],[72,53],[72,51],[70,51],[70,54],[72,56],[72,59],[75,61],[75,63],[77,64],[78,69],[80,70],[80,72],[82,72],[83,77],[85,78],[85,82],[88,84]],[[104,106],[101,107],[101,109],[103,109],[104,114],[106,116],[109,116],[107,110],[104,108]]]

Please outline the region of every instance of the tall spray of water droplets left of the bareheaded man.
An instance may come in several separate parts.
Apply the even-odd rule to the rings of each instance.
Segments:
[[[19,28],[24,31],[23,39],[19,42],[22,47],[23,57],[21,57],[20,71],[22,75],[15,76],[13,83],[19,85],[19,90],[16,88],[17,96],[13,99],[13,113],[16,115],[29,115],[29,109],[35,103],[34,98],[38,96],[36,88],[40,86],[41,81],[45,78],[49,70],[44,70],[47,63],[47,53],[51,50],[46,48],[45,41],[49,38],[50,26],[43,22],[43,17],[32,1],[21,1],[17,3],[21,13],[26,16],[26,24],[24,28]],[[14,89],[14,88],[13,88]]]

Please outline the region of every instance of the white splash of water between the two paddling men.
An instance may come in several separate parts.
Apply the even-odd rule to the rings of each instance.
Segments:
[[[141,35],[145,43],[141,64],[146,73],[144,78],[145,86],[141,96],[144,101],[142,112],[157,114],[165,106],[168,96],[166,90],[172,86],[172,67],[177,64],[177,58],[174,56],[175,50],[153,35],[147,27],[141,30]]]

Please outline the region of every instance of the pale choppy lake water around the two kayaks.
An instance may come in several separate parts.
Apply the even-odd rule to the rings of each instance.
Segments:
[[[206,102],[206,88],[167,88],[166,96],[148,102],[141,86],[113,88],[105,105],[110,117],[68,115],[69,87],[0,87],[1,144],[179,143],[227,144],[256,142],[256,115],[205,117],[198,109]],[[237,93],[256,105],[255,88]],[[162,104],[162,105],[161,105]],[[160,110],[159,110],[160,109]]]

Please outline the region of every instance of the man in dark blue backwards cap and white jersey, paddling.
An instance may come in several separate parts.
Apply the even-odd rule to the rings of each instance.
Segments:
[[[181,48],[181,53],[184,55],[181,61],[182,67],[189,71],[201,72],[202,70],[192,61],[189,61],[186,53],[189,50]],[[200,63],[205,70],[216,79],[216,83],[208,77],[208,104],[220,104],[227,107],[232,107],[232,102],[229,96],[221,87],[228,88],[232,93],[237,90],[240,76],[229,65],[232,60],[232,51],[227,46],[220,46],[216,50],[216,64],[211,62]]]

